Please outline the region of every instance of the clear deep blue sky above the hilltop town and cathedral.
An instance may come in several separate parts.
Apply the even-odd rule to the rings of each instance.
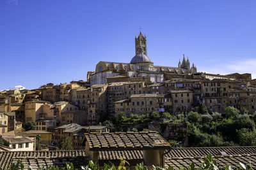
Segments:
[[[198,71],[256,78],[256,1],[0,0],[0,90],[86,80],[100,60],[130,62],[134,36],[148,57]]]

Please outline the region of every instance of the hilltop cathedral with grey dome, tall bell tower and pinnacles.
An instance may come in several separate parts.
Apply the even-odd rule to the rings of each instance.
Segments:
[[[90,75],[90,83],[104,84],[107,83],[107,78],[115,76],[150,77],[152,82],[161,82],[166,80],[166,74],[185,75],[196,72],[195,65],[190,67],[189,59],[186,60],[184,55],[178,67],[154,66],[154,62],[147,56],[147,37],[140,32],[138,38],[135,37],[135,56],[132,57],[131,62],[100,61],[96,65],[95,73]]]

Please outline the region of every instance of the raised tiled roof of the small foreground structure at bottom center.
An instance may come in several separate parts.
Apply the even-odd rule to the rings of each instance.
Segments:
[[[148,150],[168,149],[170,144],[158,133],[104,132],[85,134],[90,150]]]

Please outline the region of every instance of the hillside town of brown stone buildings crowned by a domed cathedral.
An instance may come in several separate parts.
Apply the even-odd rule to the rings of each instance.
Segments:
[[[232,120],[240,125],[236,118],[243,117],[253,125],[241,123],[237,136],[245,127],[255,133],[252,74],[200,72],[185,55],[181,62],[177,57],[177,66],[155,66],[147,54],[147,36],[141,32],[135,49],[131,62],[100,61],[95,71],[88,71],[87,80],[1,91],[0,160],[6,161],[0,167],[18,160],[35,168],[62,167],[69,161],[80,169],[88,160],[103,166],[124,158],[130,166],[144,162],[179,169],[208,153],[223,164],[234,165],[231,156],[243,157],[245,163],[255,160],[256,147],[248,146],[253,143],[242,146],[239,137],[226,138],[224,127],[205,130],[211,122]],[[194,138],[190,127],[193,132],[200,129],[202,136]],[[196,143],[205,135],[205,141]],[[221,144],[206,141],[214,135]],[[193,148],[197,146],[207,147]]]

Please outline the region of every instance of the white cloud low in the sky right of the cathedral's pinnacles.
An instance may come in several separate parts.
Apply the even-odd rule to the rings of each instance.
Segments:
[[[198,71],[214,74],[251,73],[256,78],[256,59],[231,61],[224,64],[212,64],[209,67],[200,67]]]

